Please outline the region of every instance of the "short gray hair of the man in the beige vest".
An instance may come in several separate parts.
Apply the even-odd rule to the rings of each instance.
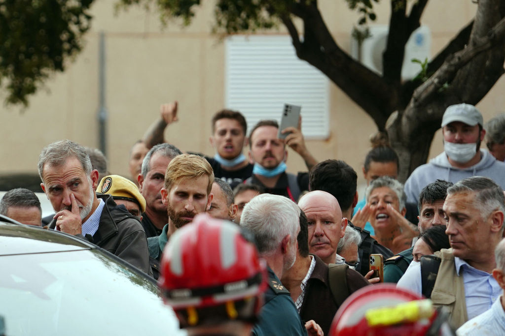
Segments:
[[[493,211],[505,214],[505,196],[503,190],[492,179],[482,176],[464,178],[447,188],[447,195],[459,192],[475,192],[475,207],[480,209],[481,218],[487,218]],[[503,223],[501,223],[503,224]],[[503,226],[501,227],[503,230]]]

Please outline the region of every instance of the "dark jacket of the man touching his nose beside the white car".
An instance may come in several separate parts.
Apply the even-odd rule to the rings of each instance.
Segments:
[[[96,197],[102,198],[105,202],[98,230],[92,237],[77,236],[128,261],[146,274],[151,274],[147,239],[140,222],[124,208],[118,207],[111,195],[103,194]],[[53,220],[49,224],[49,229],[55,227],[56,220]]]

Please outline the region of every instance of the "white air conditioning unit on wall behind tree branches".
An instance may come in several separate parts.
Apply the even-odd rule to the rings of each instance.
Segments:
[[[386,25],[370,26],[371,37],[365,39],[361,44],[361,52],[358,41],[351,36],[351,56],[370,70],[382,75],[382,53],[386,48],[387,34],[389,27]],[[412,62],[413,58],[424,62],[425,58],[430,60],[431,34],[430,29],[421,26],[416,29],[409,38],[405,46],[405,57],[403,57],[403,68],[401,78],[410,80],[419,74],[421,65]],[[361,55],[361,59],[359,59]]]

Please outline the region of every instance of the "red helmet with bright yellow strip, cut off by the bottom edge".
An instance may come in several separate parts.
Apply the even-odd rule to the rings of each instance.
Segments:
[[[447,319],[431,300],[395,284],[378,284],[366,286],[344,301],[329,335],[455,335]]]

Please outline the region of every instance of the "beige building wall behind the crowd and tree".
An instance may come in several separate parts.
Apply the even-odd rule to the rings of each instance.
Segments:
[[[189,27],[169,22],[163,28],[159,14],[143,7],[115,13],[116,0],[96,0],[92,28],[84,49],[69,62],[67,71],[54,74],[44,89],[30,98],[30,106],[6,107],[0,113],[0,131],[7,135],[0,147],[0,173],[36,172],[41,149],[60,139],[98,146],[98,34],[106,38],[107,156],[110,171],[128,176],[131,145],[159,117],[161,103],[178,100],[179,122],[169,126],[168,141],[181,150],[206,154],[210,119],[224,104],[224,43],[211,34],[213,1],[205,1]],[[337,43],[350,46],[350,30],[357,22],[343,1],[320,1],[321,12]],[[476,11],[471,2],[430,2],[422,24],[432,33],[432,55],[468,23]],[[458,13],[447,16],[446,13]],[[387,24],[388,2],[377,7],[379,24]],[[285,34],[282,29],[268,34]],[[469,84],[471,85],[471,84]],[[478,104],[488,120],[501,111],[505,97],[501,79]],[[370,149],[369,136],[376,131],[372,119],[335,85],[330,83],[330,137],[307,141],[319,160],[338,158],[356,169],[363,185],[361,167]],[[5,93],[0,99],[5,98]],[[272,117],[277,111],[272,111]],[[440,132],[430,158],[442,151]],[[302,160],[290,151],[290,171],[305,170]]]

